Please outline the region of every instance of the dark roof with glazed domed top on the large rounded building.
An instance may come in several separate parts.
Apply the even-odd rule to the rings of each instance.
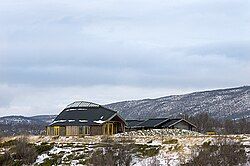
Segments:
[[[116,115],[119,116],[116,111],[110,110],[101,105],[85,101],[77,101],[69,104],[55,118],[51,126],[99,125]]]

